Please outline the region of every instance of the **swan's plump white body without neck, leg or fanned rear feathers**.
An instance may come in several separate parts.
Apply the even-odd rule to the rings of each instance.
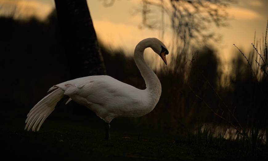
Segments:
[[[148,92],[109,76],[77,78],[55,87],[62,89],[65,95],[88,107],[106,122],[119,116],[143,116],[152,111],[153,108],[148,107],[154,104]]]

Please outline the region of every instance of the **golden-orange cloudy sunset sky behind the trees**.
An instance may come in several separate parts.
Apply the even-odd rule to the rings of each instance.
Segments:
[[[108,1],[109,2],[109,1]],[[223,41],[214,44],[223,61],[232,58],[237,45],[245,53],[252,49],[256,31],[257,39],[262,39],[266,32],[268,19],[267,0],[238,0],[228,9],[229,26],[213,28],[221,34]],[[141,0],[116,0],[113,6],[105,7],[103,1],[88,0],[88,7],[98,38],[111,47],[121,47],[133,53],[136,44],[147,37],[160,37],[160,32],[146,28],[140,29]],[[16,6],[15,17],[35,15],[43,19],[54,8],[54,0],[0,0],[0,14],[6,14]],[[136,13],[136,14],[135,14]],[[169,33],[164,36],[164,43],[169,47]]]

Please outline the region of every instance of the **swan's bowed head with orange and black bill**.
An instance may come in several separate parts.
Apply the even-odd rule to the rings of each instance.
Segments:
[[[167,47],[157,38],[148,38],[148,40],[152,42],[150,46],[152,50],[156,52],[167,65],[166,55],[169,54]]]

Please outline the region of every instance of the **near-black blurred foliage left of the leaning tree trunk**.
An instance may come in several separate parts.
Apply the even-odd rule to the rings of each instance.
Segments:
[[[1,102],[33,106],[52,84],[69,78],[57,20],[52,13],[45,22],[1,17],[0,23]]]

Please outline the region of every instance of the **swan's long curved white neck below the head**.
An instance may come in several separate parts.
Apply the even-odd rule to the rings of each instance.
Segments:
[[[140,70],[142,77],[144,78],[146,84],[146,90],[155,97],[157,97],[157,99],[159,99],[161,95],[160,81],[156,76],[156,74],[153,72],[153,70],[144,60],[144,49],[148,47],[150,47],[149,43],[139,43],[134,51],[134,60],[136,62],[137,67]]]

